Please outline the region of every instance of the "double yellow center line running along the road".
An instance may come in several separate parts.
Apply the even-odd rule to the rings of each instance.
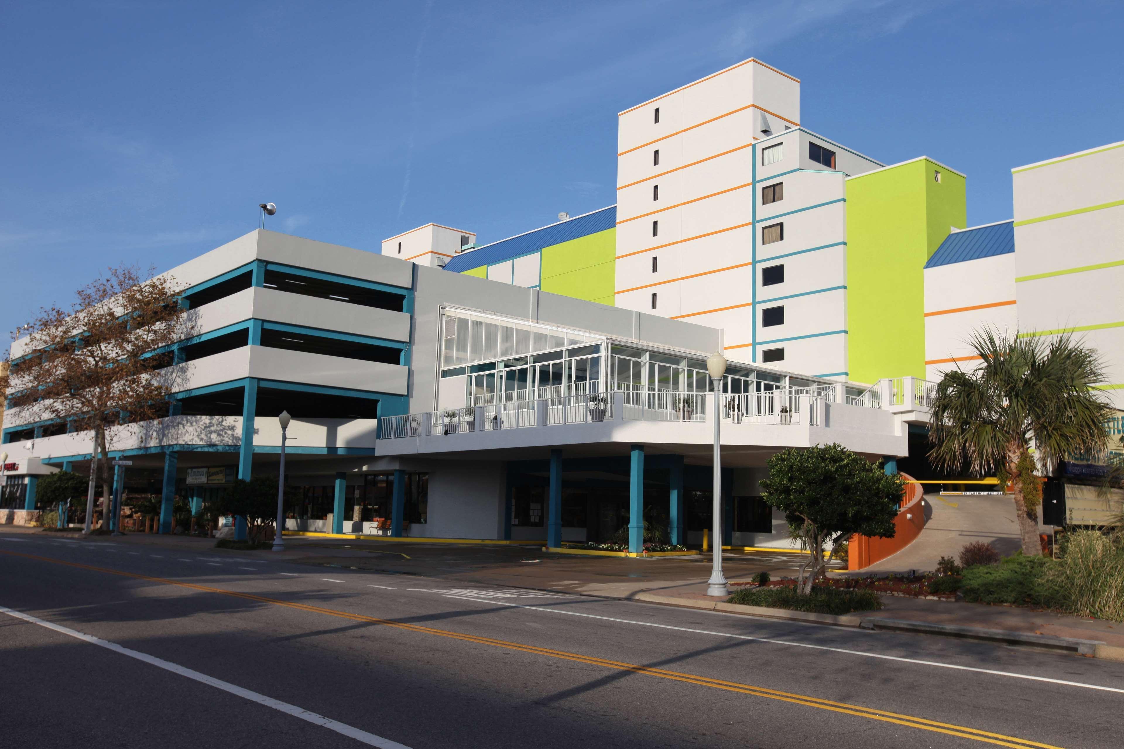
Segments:
[[[51,557],[40,557],[34,554],[21,554],[18,551],[7,551],[7,550],[0,550],[0,554],[6,554],[15,557],[25,557],[27,559],[35,559],[37,561],[48,561],[51,564],[65,565],[67,567],[78,567],[80,569],[90,569],[93,572],[106,573],[109,575],[119,575],[121,577],[133,577],[135,579],[144,579],[152,583],[160,583],[162,585],[175,585],[178,587],[188,587],[196,591],[203,591],[206,593],[219,593],[221,595],[229,595],[236,599],[256,601],[259,603],[268,603],[275,606],[285,606],[288,609],[298,609],[300,611],[308,611],[310,613],[324,614],[327,616],[336,616],[338,619],[350,619],[352,621],[366,622],[370,624],[378,624],[380,627],[392,627],[395,629],[406,630],[409,632],[417,632],[419,634],[434,634],[437,637],[446,637],[454,640],[461,640],[463,642],[472,642],[474,645],[486,645],[496,648],[504,648],[506,650],[518,650],[520,652],[527,652],[535,656],[560,658],[562,660],[572,660],[580,664],[588,664],[590,666],[599,666],[602,668],[609,668],[614,670],[632,672],[634,674],[641,674],[643,676],[654,676],[658,678],[665,678],[676,682],[685,682],[687,684],[706,686],[714,689],[737,692],[740,694],[747,694],[754,697],[764,697],[767,700],[777,700],[780,702],[788,702],[797,705],[804,705],[806,707],[817,707],[819,710],[828,710],[832,712],[843,713],[846,715],[868,718],[870,720],[881,721],[883,723],[894,723],[896,725],[915,728],[922,731],[932,731],[935,733],[944,733],[946,736],[954,736],[962,739],[972,739],[986,743],[994,743],[1000,747],[1013,747],[1014,749],[1027,749],[1028,747],[1034,747],[1035,749],[1061,749],[1061,747],[1057,747],[1054,745],[1041,743],[1039,741],[1031,741],[1028,739],[1019,739],[1012,736],[1005,736],[1003,733],[992,733],[990,731],[981,731],[978,729],[967,728],[963,725],[955,725],[953,723],[942,723],[940,721],[931,721],[925,718],[916,718],[914,715],[906,715],[903,713],[895,713],[886,710],[876,710],[873,707],[863,707],[861,705],[854,705],[845,702],[834,702],[832,700],[821,700],[819,697],[810,697],[807,695],[795,694],[791,692],[769,689],[767,687],[753,686],[751,684],[726,682],[723,679],[709,678],[706,676],[696,676],[694,674],[683,674],[681,672],[672,672],[664,668],[652,668],[649,666],[640,666],[637,664],[628,664],[619,660],[608,660],[606,658],[597,658],[595,656],[583,656],[581,654],[569,652],[565,650],[540,648],[533,645],[523,645],[519,642],[510,642],[508,640],[497,640],[490,637],[479,637],[477,634],[463,634],[461,632],[452,632],[443,629],[434,629],[432,627],[422,627],[419,624],[408,624],[405,622],[398,622],[389,619],[379,619],[377,616],[354,614],[346,611],[338,611],[336,609],[325,609],[323,606],[314,606],[307,603],[281,601],[279,599],[270,599],[262,595],[255,595],[253,593],[239,593],[237,591],[227,591],[221,587],[211,587],[209,585],[198,585],[196,583],[183,583],[180,581],[166,579],[163,577],[138,575],[136,573],[123,572],[120,569],[109,569],[107,567],[96,567],[92,565],[83,565],[75,561],[63,561],[61,559],[53,559]]]

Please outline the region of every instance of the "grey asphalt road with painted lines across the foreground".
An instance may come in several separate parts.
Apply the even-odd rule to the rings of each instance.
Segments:
[[[420,575],[0,533],[0,606],[3,747],[1124,741],[1124,664]]]

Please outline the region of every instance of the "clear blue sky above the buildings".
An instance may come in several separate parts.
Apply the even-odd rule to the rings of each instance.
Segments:
[[[0,329],[100,268],[256,227],[378,252],[437,221],[500,239],[615,201],[616,112],[755,56],[808,128],[968,174],[1120,140],[1120,2],[7,3]]]

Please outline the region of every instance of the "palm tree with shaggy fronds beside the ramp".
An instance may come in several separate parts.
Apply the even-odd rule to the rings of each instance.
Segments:
[[[967,465],[1009,479],[1023,554],[1041,555],[1042,490],[1031,474],[1031,448],[1043,473],[1068,456],[1106,448],[1113,410],[1094,387],[1105,381],[1100,355],[1070,334],[1048,340],[984,329],[968,342],[980,364],[958,365],[937,385],[928,457],[946,471]]]

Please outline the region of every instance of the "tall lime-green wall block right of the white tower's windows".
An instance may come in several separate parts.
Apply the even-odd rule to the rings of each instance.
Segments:
[[[964,182],[928,159],[846,181],[851,381],[925,376],[923,268],[950,227],[967,226]]]

